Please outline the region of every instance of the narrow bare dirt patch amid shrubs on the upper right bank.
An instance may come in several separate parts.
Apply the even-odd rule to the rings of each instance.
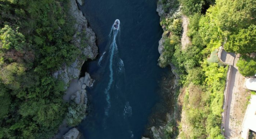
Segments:
[[[183,15],[182,16],[182,28],[183,28],[183,32],[182,32],[182,37],[181,37],[181,45],[182,45],[182,49],[184,50],[186,48],[187,44],[190,44],[190,39],[187,36],[188,33],[188,24],[189,24],[189,20],[188,18]]]

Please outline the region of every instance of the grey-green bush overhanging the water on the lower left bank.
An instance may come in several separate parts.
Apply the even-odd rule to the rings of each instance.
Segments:
[[[68,113],[66,113],[66,120],[68,125],[76,126],[85,118],[86,105],[84,104],[73,104],[68,107]]]

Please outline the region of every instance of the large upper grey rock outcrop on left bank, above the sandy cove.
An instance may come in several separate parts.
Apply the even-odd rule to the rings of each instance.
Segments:
[[[53,73],[53,77],[60,78],[65,82],[65,89],[67,89],[68,83],[72,79],[79,77],[84,61],[86,59],[93,60],[98,54],[95,33],[92,31],[91,27],[87,27],[87,20],[78,9],[76,0],[70,0],[70,15],[72,15],[76,21],[74,24],[76,33],[71,42],[81,50],[81,53],[78,54],[79,56],[71,65],[67,66],[66,63],[63,63],[62,68]]]

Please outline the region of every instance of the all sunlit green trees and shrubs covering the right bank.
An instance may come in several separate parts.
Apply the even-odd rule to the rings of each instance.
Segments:
[[[256,1],[160,0],[159,4],[165,12],[160,22],[164,49],[159,65],[175,65],[180,85],[186,88],[180,132],[168,134],[180,139],[224,139],[220,124],[228,66],[215,55],[222,45],[226,51],[241,55],[237,66],[243,76],[256,73],[252,57],[256,52]],[[183,15],[190,20],[187,35],[191,43],[185,48],[180,40]]]

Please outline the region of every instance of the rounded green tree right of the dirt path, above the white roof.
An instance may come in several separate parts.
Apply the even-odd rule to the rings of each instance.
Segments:
[[[256,60],[248,56],[240,57],[237,62],[238,71],[245,77],[254,76],[256,74]]]

